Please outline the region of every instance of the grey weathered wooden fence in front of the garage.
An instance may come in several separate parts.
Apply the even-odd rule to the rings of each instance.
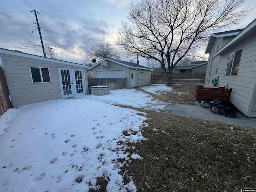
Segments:
[[[90,87],[96,85],[104,85],[110,87],[110,90],[127,88],[126,78],[88,78],[88,90],[91,94]]]

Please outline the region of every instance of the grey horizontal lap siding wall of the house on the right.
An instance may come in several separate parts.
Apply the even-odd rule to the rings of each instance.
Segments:
[[[238,74],[235,77],[225,76],[228,54],[243,48]],[[210,66],[209,66],[210,67]],[[214,74],[217,68],[217,73]],[[208,68],[209,70],[209,68]],[[218,86],[233,88],[230,100],[246,116],[255,116],[256,108],[254,89],[256,84],[256,37],[248,38],[232,46],[227,52],[213,58],[210,80],[219,76]],[[211,81],[210,81],[211,83]]]

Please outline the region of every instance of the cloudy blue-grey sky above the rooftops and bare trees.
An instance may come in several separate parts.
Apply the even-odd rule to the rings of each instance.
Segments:
[[[0,2],[0,48],[43,56],[38,29],[35,27],[36,19],[34,12],[31,12],[36,10],[44,44],[52,45],[63,60],[83,64],[83,55],[91,45],[99,42],[116,43],[118,28],[121,27],[121,20],[126,20],[130,3],[140,0]],[[226,30],[244,28],[256,18],[256,1],[247,2],[252,3],[250,14],[239,25]],[[120,59],[130,60],[124,55]]]

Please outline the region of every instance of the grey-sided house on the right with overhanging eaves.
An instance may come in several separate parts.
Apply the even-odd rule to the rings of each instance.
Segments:
[[[206,85],[232,88],[230,101],[248,117],[256,117],[256,19],[246,28],[211,34]]]

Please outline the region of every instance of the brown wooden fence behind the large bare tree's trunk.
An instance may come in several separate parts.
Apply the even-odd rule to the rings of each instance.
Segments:
[[[173,84],[204,84],[205,73],[173,73]],[[151,74],[151,84],[165,84],[167,79],[164,74]]]

